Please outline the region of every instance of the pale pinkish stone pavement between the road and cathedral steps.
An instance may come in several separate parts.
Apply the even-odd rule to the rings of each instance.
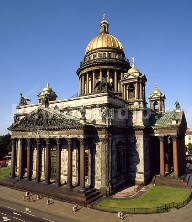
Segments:
[[[0,197],[12,202],[25,204],[28,208],[33,207],[41,211],[50,212],[59,216],[65,216],[73,218],[83,222],[117,222],[121,221],[117,218],[116,213],[102,212],[95,209],[87,209],[82,207],[77,212],[72,212],[72,204],[53,200],[54,203],[51,205],[46,204],[47,198],[35,202],[28,202],[23,200],[25,192],[13,190],[11,188],[0,186]],[[34,196],[35,197],[35,196]],[[179,210],[172,209],[168,213],[149,214],[149,215],[137,215],[137,214],[126,214],[124,221],[126,222],[191,222],[192,221],[192,202],[190,202],[184,208]]]

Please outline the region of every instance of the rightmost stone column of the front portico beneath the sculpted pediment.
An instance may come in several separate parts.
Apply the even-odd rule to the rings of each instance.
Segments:
[[[80,189],[85,190],[85,140],[80,139]]]

